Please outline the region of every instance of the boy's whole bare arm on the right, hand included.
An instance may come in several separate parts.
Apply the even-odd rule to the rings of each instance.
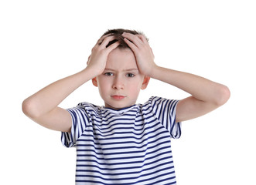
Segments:
[[[179,101],[176,122],[203,116],[229,99],[230,91],[227,86],[186,72],[156,66],[152,49],[143,35],[125,33],[123,36],[135,53],[138,69],[142,74],[167,82],[192,95]]]

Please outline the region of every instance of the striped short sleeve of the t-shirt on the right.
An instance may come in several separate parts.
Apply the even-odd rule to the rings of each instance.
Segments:
[[[169,130],[173,139],[178,139],[181,135],[181,123],[176,123],[176,106],[179,101],[151,97],[149,102],[152,104],[153,113],[159,122],[166,127],[166,130]]]

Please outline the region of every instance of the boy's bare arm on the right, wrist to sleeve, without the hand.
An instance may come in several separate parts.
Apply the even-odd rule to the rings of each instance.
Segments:
[[[176,122],[210,113],[226,103],[230,97],[227,86],[186,72],[155,66],[152,70],[152,78],[167,82],[192,95],[179,101],[176,108]]]

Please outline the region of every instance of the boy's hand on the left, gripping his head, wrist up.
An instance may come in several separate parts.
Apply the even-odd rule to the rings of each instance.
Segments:
[[[106,48],[108,43],[113,40],[114,36],[111,34],[104,35],[97,41],[94,48],[91,49],[91,54],[87,61],[87,69],[93,69],[95,76],[101,75],[105,69],[108,54],[118,47],[119,42],[114,42],[114,44],[111,44]]]

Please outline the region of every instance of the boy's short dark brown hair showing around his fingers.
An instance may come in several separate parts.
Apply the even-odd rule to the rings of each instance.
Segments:
[[[111,35],[114,35],[114,40],[109,42],[108,45],[106,46],[108,48],[109,45],[113,44],[114,42],[120,42],[120,44],[118,45],[118,48],[119,49],[126,49],[126,48],[130,48],[124,41],[124,37],[122,36],[123,32],[128,32],[128,33],[131,33],[133,35],[144,35],[143,32],[138,32],[138,31],[135,31],[135,30],[130,30],[130,29],[108,29],[107,32],[104,32],[103,35],[108,35],[108,34],[111,34]],[[102,36],[103,36],[102,35]],[[145,36],[145,35],[144,35]],[[148,38],[145,36],[145,39],[147,39],[148,41]]]

